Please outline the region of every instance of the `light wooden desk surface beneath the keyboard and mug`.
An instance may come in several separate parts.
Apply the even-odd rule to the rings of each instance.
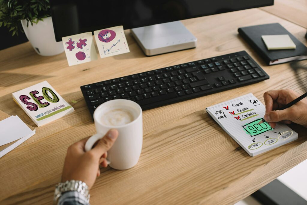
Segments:
[[[126,31],[130,53],[68,67],[65,54],[38,56],[29,43],[0,51],[0,110],[35,124],[11,93],[47,80],[75,112],[45,126],[0,159],[1,204],[50,204],[66,149],[95,133],[80,86],[188,61],[246,50],[270,75],[257,84],[143,112],[144,142],[129,170],[101,169],[91,204],[232,204],[307,159],[306,129],[293,125],[298,140],[250,157],[205,113],[205,107],[252,92],[263,102],[270,89],[307,91],[307,71],[289,64],[266,66],[238,35],[238,27],[279,22],[305,45],[305,29],[260,9],[182,21],[197,47],[146,57]],[[72,103],[72,100],[77,103]]]

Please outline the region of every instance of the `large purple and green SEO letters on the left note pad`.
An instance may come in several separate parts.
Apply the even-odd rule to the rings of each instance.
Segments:
[[[48,87],[43,87],[41,89],[43,96],[37,96],[39,94],[38,91],[31,91],[29,92],[29,95],[31,98],[34,100],[35,103],[29,102],[31,98],[27,95],[20,95],[19,99],[21,100],[22,103],[28,105],[27,109],[30,111],[36,111],[38,108],[44,108],[50,105],[50,103],[57,103],[59,102],[58,96]],[[51,95],[51,96],[50,96]],[[46,102],[42,102],[42,100],[46,100]],[[48,102],[49,103],[48,103]]]

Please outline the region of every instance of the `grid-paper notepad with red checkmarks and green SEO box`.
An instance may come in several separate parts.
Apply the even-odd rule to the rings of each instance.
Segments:
[[[206,108],[207,113],[252,157],[297,139],[285,124],[258,125],[265,106],[252,93]]]

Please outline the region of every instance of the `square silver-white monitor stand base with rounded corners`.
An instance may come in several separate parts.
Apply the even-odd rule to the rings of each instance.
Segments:
[[[196,47],[196,37],[180,21],[134,28],[131,33],[146,56]]]

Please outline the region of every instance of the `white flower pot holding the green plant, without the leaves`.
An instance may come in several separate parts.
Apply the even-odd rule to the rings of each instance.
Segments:
[[[27,27],[27,20],[21,20],[21,25],[39,55],[53,56],[64,52],[62,41],[56,42],[51,17],[44,18],[44,21],[39,21],[37,24],[33,23],[33,26],[29,22],[29,27]]]

